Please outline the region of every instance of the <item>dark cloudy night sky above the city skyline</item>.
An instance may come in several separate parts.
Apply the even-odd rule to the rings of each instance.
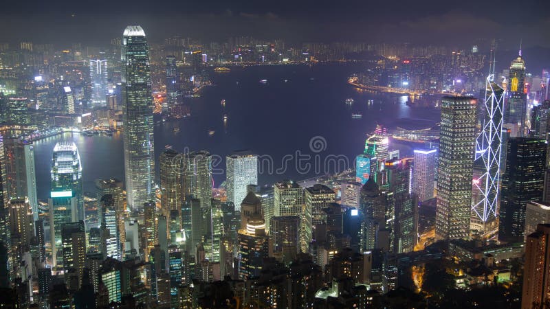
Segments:
[[[151,41],[171,35],[290,41],[471,44],[501,38],[507,48],[550,47],[550,1],[135,0],[3,1],[0,41],[105,44],[127,24]]]

